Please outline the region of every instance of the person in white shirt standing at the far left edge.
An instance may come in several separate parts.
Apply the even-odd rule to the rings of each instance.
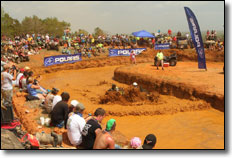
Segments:
[[[1,93],[3,98],[3,105],[11,106],[13,97],[13,83],[16,79],[16,69],[14,69],[13,76],[9,73],[10,66],[8,64],[3,66],[4,71],[1,72]]]

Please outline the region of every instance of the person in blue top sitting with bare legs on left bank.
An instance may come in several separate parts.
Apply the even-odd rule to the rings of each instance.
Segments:
[[[29,93],[29,95],[33,96],[33,97],[37,97],[40,100],[44,101],[46,94],[43,93],[38,93],[36,90],[40,89],[39,85],[34,85],[33,84],[34,79],[32,77],[28,78],[28,85],[27,85],[27,92]]]

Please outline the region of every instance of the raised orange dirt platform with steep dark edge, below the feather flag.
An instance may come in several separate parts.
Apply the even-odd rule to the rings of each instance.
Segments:
[[[172,70],[170,71],[170,69]],[[223,74],[214,72],[216,71],[214,69],[210,70],[212,72],[204,72],[204,74],[201,71],[184,73],[181,68],[175,67],[170,69],[159,71],[152,68],[151,65],[119,67],[114,71],[114,79],[126,84],[137,82],[149,91],[157,91],[160,94],[172,95],[181,99],[193,101],[202,99],[215,109],[224,111]],[[188,68],[183,67],[183,69]],[[211,77],[213,73],[215,75]],[[195,81],[197,74],[200,77],[199,81]],[[192,77],[188,75],[192,75]]]

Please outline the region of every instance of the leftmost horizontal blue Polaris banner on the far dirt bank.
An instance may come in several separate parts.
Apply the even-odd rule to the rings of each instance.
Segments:
[[[51,66],[56,64],[74,63],[81,61],[81,53],[74,55],[57,55],[44,58],[44,66]]]

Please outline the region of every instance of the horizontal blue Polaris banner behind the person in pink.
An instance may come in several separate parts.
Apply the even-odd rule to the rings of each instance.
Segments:
[[[109,49],[109,56],[130,56],[131,51],[135,51],[135,55],[142,53],[142,51],[147,50],[146,48],[136,48],[136,49]]]

